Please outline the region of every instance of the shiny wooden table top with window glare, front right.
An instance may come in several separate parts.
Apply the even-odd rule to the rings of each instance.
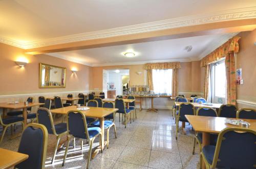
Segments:
[[[188,122],[191,124],[191,126],[194,128],[196,132],[220,133],[220,131],[227,127],[239,127],[225,123],[225,117],[209,117],[199,115],[185,115],[185,117],[187,118]],[[250,124],[249,129],[256,131],[255,119],[243,120]]]

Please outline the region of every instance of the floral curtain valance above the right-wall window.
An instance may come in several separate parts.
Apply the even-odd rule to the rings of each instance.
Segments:
[[[238,53],[240,37],[234,36],[201,60],[201,67],[224,58],[229,52]]]

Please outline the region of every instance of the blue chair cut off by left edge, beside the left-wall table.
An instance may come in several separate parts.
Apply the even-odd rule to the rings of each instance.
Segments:
[[[3,126],[3,133],[0,139],[0,143],[3,141],[3,138],[5,136],[6,130],[8,127],[16,125],[17,123],[21,123],[22,124],[22,129],[24,130],[24,123],[23,123],[24,118],[23,117],[19,117],[19,116],[11,116],[11,117],[7,117],[2,119],[2,116],[0,115],[0,125]],[[12,132],[12,130],[11,130]]]

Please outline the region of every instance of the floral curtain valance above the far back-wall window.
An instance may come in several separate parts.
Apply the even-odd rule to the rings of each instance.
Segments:
[[[180,68],[180,62],[146,63],[145,69],[172,69]]]

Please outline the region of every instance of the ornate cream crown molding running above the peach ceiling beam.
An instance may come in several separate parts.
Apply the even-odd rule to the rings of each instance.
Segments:
[[[31,41],[31,42],[18,42],[8,38],[0,37],[0,42],[20,47],[22,49],[32,49],[35,47],[42,47],[54,44],[62,44],[76,41],[84,41],[91,39],[100,39],[121,35],[129,35],[136,33],[152,32],[165,29],[201,25],[205,23],[214,23],[228,20],[250,19],[256,18],[256,7],[240,8],[232,10],[224,10],[212,12],[208,14],[197,14],[184,17],[177,17],[172,19],[142,23],[139,25],[132,25],[127,27],[119,27],[108,30],[101,30],[95,32],[73,34],[68,36]]]

